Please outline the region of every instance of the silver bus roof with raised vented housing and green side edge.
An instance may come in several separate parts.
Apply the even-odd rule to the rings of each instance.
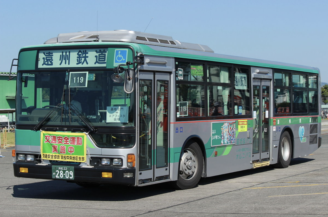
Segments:
[[[319,73],[319,69],[317,67],[215,54],[214,51],[206,45],[180,42],[178,40],[174,40],[171,36],[162,36],[130,30],[63,33],[59,34],[57,37],[47,40],[44,44],[54,45],[63,43],[68,45],[70,42],[84,42],[85,44],[90,44],[90,42],[94,43],[98,41],[100,43],[102,42],[101,44],[106,42],[115,42],[115,44],[117,42],[136,43],[139,44],[139,47],[142,50],[141,52],[148,55],[220,61],[233,64],[252,65],[256,67],[269,67]],[[81,45],[81,43],[73,44]]]

